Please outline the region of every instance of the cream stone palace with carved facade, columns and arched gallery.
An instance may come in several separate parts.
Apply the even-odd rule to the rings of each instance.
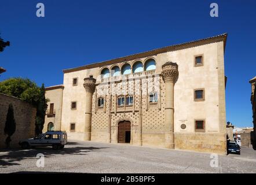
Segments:
[[[44,131],[68,139],[226,152],[227,34],[65,69]]]

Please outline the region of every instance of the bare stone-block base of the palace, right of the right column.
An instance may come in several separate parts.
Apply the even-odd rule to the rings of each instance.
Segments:
[[[175,133],[175,149],[226,154],[226,134]]]

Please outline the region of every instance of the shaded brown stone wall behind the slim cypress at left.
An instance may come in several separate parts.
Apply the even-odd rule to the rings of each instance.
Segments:
[[[4,134],[4,129],[10,103],[13,105],[14,119],[16,121],[16,131],[11,137],[10,147],[19,147],[20,139],[28,139],[35,136],[36,108],[30,103],[0,93],[0,148],[5,147],[7,135]]]

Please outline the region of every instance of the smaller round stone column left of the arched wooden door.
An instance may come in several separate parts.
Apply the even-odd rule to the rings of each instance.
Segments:
[[[92,102],[93,92],[95,91],[96,79],[92,77],[86,77],[83,79],[83,87],[85,87],[86,98],[85,98],[85,140],[91,140],[92,131]]]

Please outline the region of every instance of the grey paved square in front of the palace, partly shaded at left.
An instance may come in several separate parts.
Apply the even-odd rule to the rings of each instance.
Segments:
[[[45,167],[36,166],[36,154],[45,155]],[[218,156],[211,167],[210,154],[72,141],[63,150],[51,147],[0,150],[0,172],[82,173],[256,173],[256,151],[242,147],[241,155]]]

